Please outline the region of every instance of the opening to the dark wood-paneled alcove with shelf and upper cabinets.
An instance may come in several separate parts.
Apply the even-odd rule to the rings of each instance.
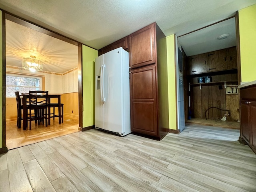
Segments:
[[[235,17],[178,37],[186,123],[240,128]]]

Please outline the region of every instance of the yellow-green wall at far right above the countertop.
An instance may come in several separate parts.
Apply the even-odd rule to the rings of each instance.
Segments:
[[[256,80],[256,4],[239,10],[241,81]]]

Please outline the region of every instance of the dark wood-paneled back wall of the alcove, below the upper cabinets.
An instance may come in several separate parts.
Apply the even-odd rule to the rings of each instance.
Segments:
[[[237,80],[237,74],[225,74],[212,76],[213,82]],[[193,83],[197,83],[197,78],[193,78]],[[234,84],[234,83],[230,83]],[[190,109],[192,117],[205,118],[205,112],[211,107],[217,107],[223,110],[230,110],[228,120],[237,120],[239,118],[239,100],[238,94],[226,94],[224,84],[211,86],[192,86]],[[207,119],[219,119],[224,116],[226,111],[211,108],[206,113]]]

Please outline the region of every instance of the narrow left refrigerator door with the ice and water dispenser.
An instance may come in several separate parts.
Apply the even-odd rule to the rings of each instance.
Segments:
[[[104,102],[102,102],[102,77],[104,55],[95,59],[95,127],[104,129]]]

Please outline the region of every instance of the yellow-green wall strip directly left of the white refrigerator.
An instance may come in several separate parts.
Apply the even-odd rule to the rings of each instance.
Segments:
[[[98,51],[82,46],[83,127],[94,125],[94,61]]]

